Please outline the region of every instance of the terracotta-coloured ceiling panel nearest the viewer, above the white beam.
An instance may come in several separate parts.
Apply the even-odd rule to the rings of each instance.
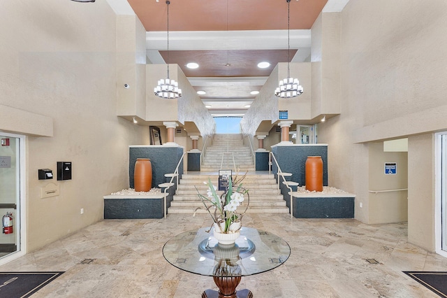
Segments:
[[[146,31],[166,31],[167,5],[128,0]],[[328,0],[291,1],[291,29],[310,29]],[[286,0],[170,0],[170,31],[287,29]]]

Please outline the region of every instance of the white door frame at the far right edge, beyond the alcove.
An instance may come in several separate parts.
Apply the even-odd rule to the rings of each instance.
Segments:
[[[442,222],[442,215],[443,215],[443,207],[442,207],[442,200],[443,200],[443,194],[442,194],[442,190],[446,189],[447,187],[447,182],[446,179],[442,179],[442,171],[443,171],[443,166],[441,164],[442,162],[442,153],[443,153],[443,148],[442,148],[442,136],[446,135],[447,136],[447,132],[438,132],[436,134],[434,134],[434,188],[435,188],[435,194],[434,194],[434,198],[435,198],[435,202],[434,202],[434,241],[435,241],[435,249],[436,249],[436,253],[439,255],[442,255],[444,257],[447,257],[447,250],[443,250],[442,246],[443,246],[443,229],[447,229],[447,224],[446,227],[443,227],[443,222]],[[447,147],[447,146],[446,146]],[[446,148],[444,148],[444,150],[446,150]],[[444,152],[444,155],[447,155],[446,152]],[[447,167],[447,162],[444,164],[444,166]],[[444,169],[444,172],[447,172],[447,169]],[[447,198],[444,198],[447,202]],[[446,209],[444,210],[444,216],[447,215],[447,211]],[[446,232],[447,234],[447,232]],[[445,240],[445,239],[444,239]]]

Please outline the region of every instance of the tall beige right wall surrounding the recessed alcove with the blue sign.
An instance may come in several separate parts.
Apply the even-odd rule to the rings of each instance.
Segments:
[[[349,1],[340,17],[341,114],[318,127],[329,184],[355,193],[356,218],[369,222],[368,204],[358,206],[369,197],[366,143],[409,136],[409,241],[434,250],[433,185],[423,180],[434,169],[431,134],[447,129],[447,3]]]

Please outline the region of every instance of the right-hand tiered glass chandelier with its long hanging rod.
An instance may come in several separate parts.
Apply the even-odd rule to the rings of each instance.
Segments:
[[[279,80],[279,87],[274,90],[274,94],[283,99],[298,97],[301,95],[303,90],[300,85],[298,78],[291,78],[291,63],[289,59],[291,50],[291,0],[286,0],[288,5],[287,11],[287,38],[288,38],[288,49],[287,49],[287,78]]]

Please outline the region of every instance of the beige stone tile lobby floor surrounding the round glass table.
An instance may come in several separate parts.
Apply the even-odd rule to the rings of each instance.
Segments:
[[[212,278],[173,267],[161,248],[176,234],[210,224],[209,215],[103,220],[0,271],[66,271],[33,298],[200,297],[207,288],[217,290]],[[291,246],[290,258],[277,269],[242,278],[238,288],[254,297],[439,297],[402,271],[447,271],[447,258],[407,242],[405,223],[251,213],[243,225],[268,230]],[[366,261],[371,259],[379,264]]]

